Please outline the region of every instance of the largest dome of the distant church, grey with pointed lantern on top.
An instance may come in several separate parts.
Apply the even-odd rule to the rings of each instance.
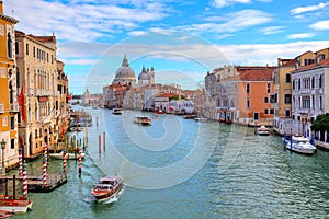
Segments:
[[[123,58],[122,66],[115,72],[115,79],[113,83],[134,85],[135,82],[135,71],[129,67],[128,59],[125,56]]]

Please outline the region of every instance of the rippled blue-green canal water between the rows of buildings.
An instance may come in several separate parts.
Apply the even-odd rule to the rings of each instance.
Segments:
[[[14,218],[329,216],[328,152],[291,153],[280,137],[254,136],[253,128],[235,125],[147,113],[152,125],[146,127],[133,123],[140,112],[83,110],[92,114],[93,125],[81,177],[78,162],[68,161],[68,183],[52,193],[29,193],[33,210]],[[60,173],[61,166],[50,160],[48,171]],[[29,163],[27,174],[42,174],[42,158]],[[107,174],[121,175],[124,189],[97,204],[90,189]]]

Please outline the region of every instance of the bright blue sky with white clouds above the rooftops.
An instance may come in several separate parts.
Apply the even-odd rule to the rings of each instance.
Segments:
[[[329,46],[329,1],[4,0],[16,30],[57,37],[69,89],[101,92],[127,55],[156,81],[202,87],[223,65],[276,65]]]

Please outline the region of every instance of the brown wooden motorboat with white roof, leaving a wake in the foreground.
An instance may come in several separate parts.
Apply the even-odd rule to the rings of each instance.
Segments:
[[[116,175],[110,175],[101,177],[99,182],[93,185],[91,195],[98,203],[103,203],[114,197],[122,187],[123,178]]]

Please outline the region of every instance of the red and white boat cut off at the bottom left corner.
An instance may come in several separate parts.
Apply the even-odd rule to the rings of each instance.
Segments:
[[[32,200],[23,196],[0,195],[0,210],[13,214],[25,214],[32,209]]]

